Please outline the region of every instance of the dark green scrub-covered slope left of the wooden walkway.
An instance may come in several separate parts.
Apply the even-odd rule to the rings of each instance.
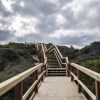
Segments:
[[[34,66],[35,46],[23,43],[0,45],[0,82]]]

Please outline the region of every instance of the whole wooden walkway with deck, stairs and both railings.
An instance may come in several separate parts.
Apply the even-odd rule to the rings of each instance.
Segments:
[[[15,99],[11,100],[100,100],[100,73],[69,62],[55,45],[47,50],[45,44],[37,43],[36,49],[40,63],[0,83],[0,97],[14,89]],[[83,82],[84,74],[95,81],[95,94]],[[33,83],[23,93],[23,81],[28,77]],[[84,93],[91,99],[83,97]]]

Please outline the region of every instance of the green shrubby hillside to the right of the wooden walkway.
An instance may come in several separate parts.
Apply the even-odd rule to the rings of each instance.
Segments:
[[[100,73],[100,42],[93,42],[82,49],[73,46],[58,46],[63,56],[68,56],[70,62],[78,63],[90,70]],[[75,73],[76,70],[74,69]],[[82,73],[82,82],[95,93],[95,80]],[[90,99],[89,99],[90,100]]]

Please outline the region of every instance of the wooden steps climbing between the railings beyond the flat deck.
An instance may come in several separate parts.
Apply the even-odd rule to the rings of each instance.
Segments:
[[[54,52],[46,52],[48,76],[66,76],[66,68],[62,68]]]

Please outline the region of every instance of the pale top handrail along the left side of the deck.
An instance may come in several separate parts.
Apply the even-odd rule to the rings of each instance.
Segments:
[[[41,63],[37,66],[34,66],[33,68],[30,68],[2,83],[0,83],[0,96],[16,86],[18,83],[22,82],[24,79],[26,79],[29,75],[34,73],[36,70],[40,69],[42,66],[44,66],[44,63]]]

